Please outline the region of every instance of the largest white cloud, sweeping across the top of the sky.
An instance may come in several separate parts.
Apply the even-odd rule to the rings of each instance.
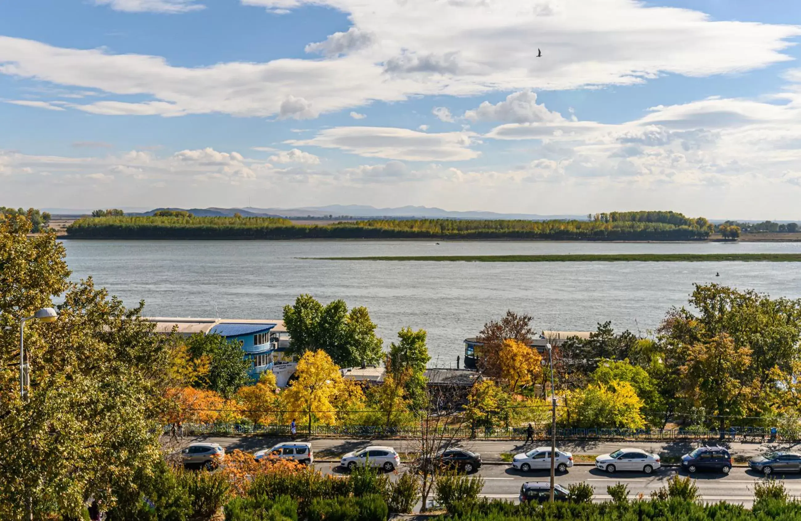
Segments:
[[[127,9],[144,5],[128,2]],[[0,74],[99,91],[107,96],[105,103],[76,107],[96,114],[313,118],[410,96],[569,90],[631,85],[660,74],[742,73],[790,59],[783,51],[801,34],[798,26],[714,21],[698,11],[631,0],[245,3],[272,10],[328,6],[348,14],[352,27],[312,44],[310,50],[328,54],[321,59],[196,67],[172,66],[159,56],[2,37]],[[155,4],[199,7],[177,0]],[[362,46],[367,40],[370,45]],[[542,58],[535,58],[537,47]],[[123,98],[129,95],[147,101]]]

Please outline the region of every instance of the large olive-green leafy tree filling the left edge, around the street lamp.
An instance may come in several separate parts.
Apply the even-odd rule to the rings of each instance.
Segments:
[[[11,221],[11,222],[10,222]],[[75,519],[105,504],[159,459],[159,413],[169,339],[153,334],[91,279],[68,282],[54,234],[26,237],[30,222],[0,222],[0,519]],[[19,320],[62,295],[58,320],[31,321],[30,400],[18,387]]]

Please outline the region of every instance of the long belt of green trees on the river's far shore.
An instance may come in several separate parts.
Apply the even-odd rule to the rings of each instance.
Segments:
[[[296,225],[285,218],[154,216],[80,218],[69,238],[116,239],[510,239],[577,241],[688,241],[709,238],[705,218],[670,211],[612,212],[581,220],[372,219]]]

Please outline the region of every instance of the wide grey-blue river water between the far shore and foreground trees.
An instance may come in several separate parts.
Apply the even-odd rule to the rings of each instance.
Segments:
[[[693,283],[801,297],[799,263],[443,263],[302,257],[445,254],[801,253],[801,242],[434,242],[65,240],[74,279],[92,276],[145,315],[280,319],[308,293],[366,306],[384,344],[400,327],[429,332],[429,365],[455,365],[462,341],[506,310],[537,329],[646,334]],[[719,276],[716,276],[719,274]]]

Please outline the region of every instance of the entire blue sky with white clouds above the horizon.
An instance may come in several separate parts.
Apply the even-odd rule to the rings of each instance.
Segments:
[[[799,41],[777,0],[0,0],[0,206],[801,220]]]

